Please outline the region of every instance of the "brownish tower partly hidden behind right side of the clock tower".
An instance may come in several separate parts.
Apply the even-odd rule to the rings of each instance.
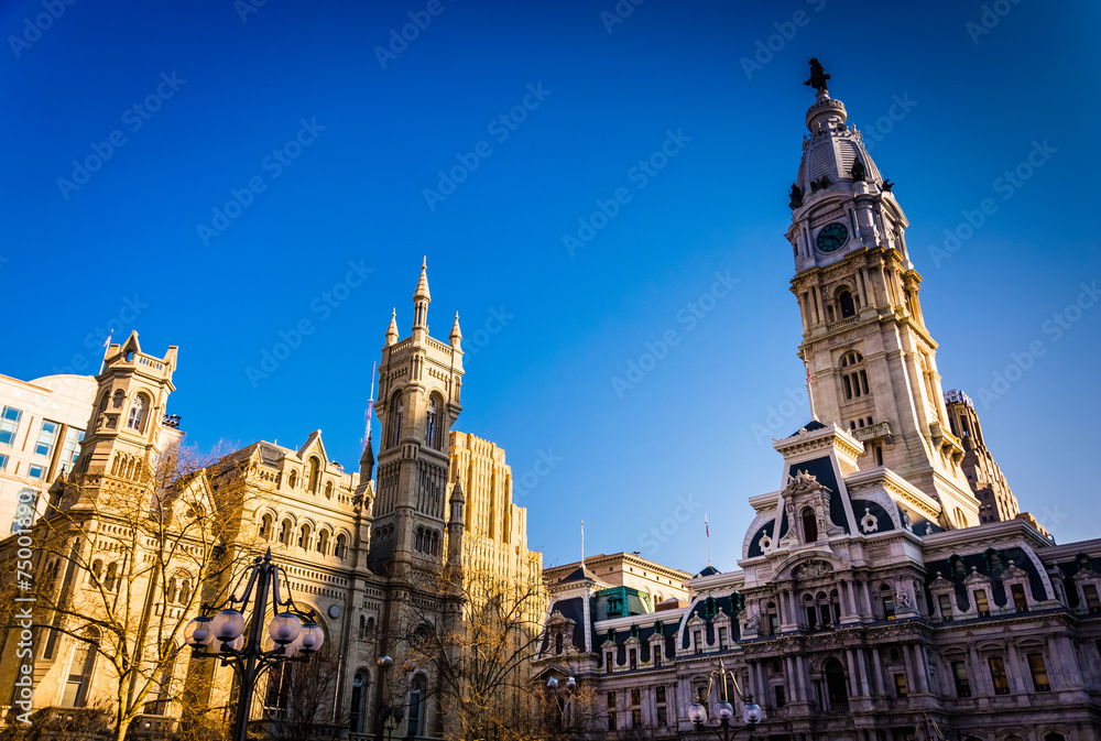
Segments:
[[[1021,514],[1017,498],[994,462],[994,456],[986,448],[982,437],[982,425],[974,411],[971,397],[952,389],[945,393],[948,403],[948,423],[952,434],[963,443],[963,461],[960,468],[971,484],[971,491],[979,498],[980,522],[1005,522]]]

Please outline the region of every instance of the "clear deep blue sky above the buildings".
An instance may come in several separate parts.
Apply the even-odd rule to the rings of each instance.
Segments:
[[[320,428],[352,468],[427,255],[432,331],[459,312],[468,351],[456,427],[506,450],[546,563],[584,519],[590,554],[695,571],[706,513],[733,568],[781,484],[763,438],[809,416],[783,235],[816,56],[896,183],[945,388],[998,395],[1022,509],[1101,535],[1101,310],[1064,313],[1101,280],[1095,3],[260,2],[0,8],[0,372],[95,372],[113,320],[179,346],[192,443]]]

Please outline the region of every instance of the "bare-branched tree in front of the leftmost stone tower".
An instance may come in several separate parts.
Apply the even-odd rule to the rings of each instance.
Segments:
[[[35,661],[48,671],[64,639],[74,643],[62,705],[105,705],[115,741],[139,716],[170,707],[186,715],[184,628],[224,593],[250,551],[241,526],[251,489],[229,470],[248,461],[208,469],[217,458],[175,447],[155,467],[70,473],[29,531]],[[14,541],[0,546],[9,564],[18,560]],[[15,624],[13,610],[4,617]]]

